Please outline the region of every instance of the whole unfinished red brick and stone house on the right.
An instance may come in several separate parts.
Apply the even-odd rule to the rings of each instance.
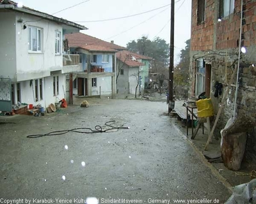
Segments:
[[[234,115],[256,117],[255,12],[255,1],[192,1],[189,95],[205,92],[215,115],[221,106],[216,137]],[[254,162],[255,143],[255,131],[248,133],[246,157]]]

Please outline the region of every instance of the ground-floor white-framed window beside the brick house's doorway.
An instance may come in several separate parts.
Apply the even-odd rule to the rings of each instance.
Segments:
[[[205,91],[205,61],[196,61],[196,96]]]

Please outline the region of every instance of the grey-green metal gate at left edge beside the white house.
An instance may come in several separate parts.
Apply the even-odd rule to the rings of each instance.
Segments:
[[[0,76],[0,111],[12,112],[11,79]]]

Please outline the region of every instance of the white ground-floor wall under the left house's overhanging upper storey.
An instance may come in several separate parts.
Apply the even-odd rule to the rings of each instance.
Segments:
[[[59,94],[57,96],[53,96],[53,77],[59,76]],[[30,85],[30,80],[20,82],[20,95],[21,95],[21,103],[28,103],[33,105],[42,105],[44,108],[47,108],[51,103],[56,102],[57,100],[61,100],[64,97],[65,90],[65,75],[52,75],[51,77],[45,77],[43,79],[43,99],[39,101],[35,101],[35,80],[33,80],[33,85]],[[38,78],[39,80],[39,78]]]

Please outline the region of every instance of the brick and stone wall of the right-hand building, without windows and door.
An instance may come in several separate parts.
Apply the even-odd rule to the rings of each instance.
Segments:
[[[241,26],[241,1],[235,0],[234,13],[218,20],[219,3],[217,0],[205,0],[205,22],[198,24],[198,1],[192,0],[191,18],[191,52],[190,68],[191,89],[189,96],[195,91],[195,59],[203,58],[211,64],[211,99],[214,105],[215,117],[223,97],[214,98],[214,84],[223,84],[223,92],[232,76],[232,70],[237,66],[239,33]],[[237,94],[237,113],[256,119],[256,1],[243,1],[243,21],[241,46],[247,53],[241,55],[239,73],[239,91]],[[195,57],[196,56],[196,57]],[[206,57],[207,56],[207,57]],[[233,64],[233,66],[231,66]],[[252,65],[255,64],[255,67]],[[220,130],[227,120],[234,115],[236,93],[236,75],[228,92],[225,107],[220,115],[214,135],[220,137]],[[256,129],[249,133],[246,159],[256,163]]]

